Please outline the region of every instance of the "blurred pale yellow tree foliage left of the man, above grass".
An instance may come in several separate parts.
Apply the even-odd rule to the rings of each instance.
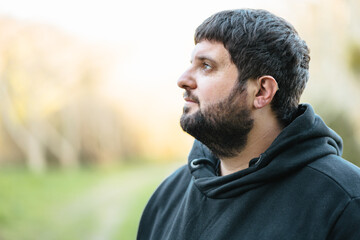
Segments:
[[[0,31],[0,124],[31,170],[44,171],[49,156],[68,168],[135,152],[99,90],[110,65],[102,49],[12,19],[0,19]]]

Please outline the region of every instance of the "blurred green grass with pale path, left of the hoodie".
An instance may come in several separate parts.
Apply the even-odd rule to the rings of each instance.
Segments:
[[[175,165],[0,171],[0,239],[135,239],[151,193]]]

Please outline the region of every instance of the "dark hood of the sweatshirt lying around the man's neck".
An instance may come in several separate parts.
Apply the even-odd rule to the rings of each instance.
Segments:
[[[298,116],[249,167],[217,176],[219,159],[195,140],[189,154],[194,184],[207,197],[231,198],[276,180],[329,154],[342,154],[342,139],[328,128],[308,104],[299,105]],[[250,161],[251,160],[251,161]]]

